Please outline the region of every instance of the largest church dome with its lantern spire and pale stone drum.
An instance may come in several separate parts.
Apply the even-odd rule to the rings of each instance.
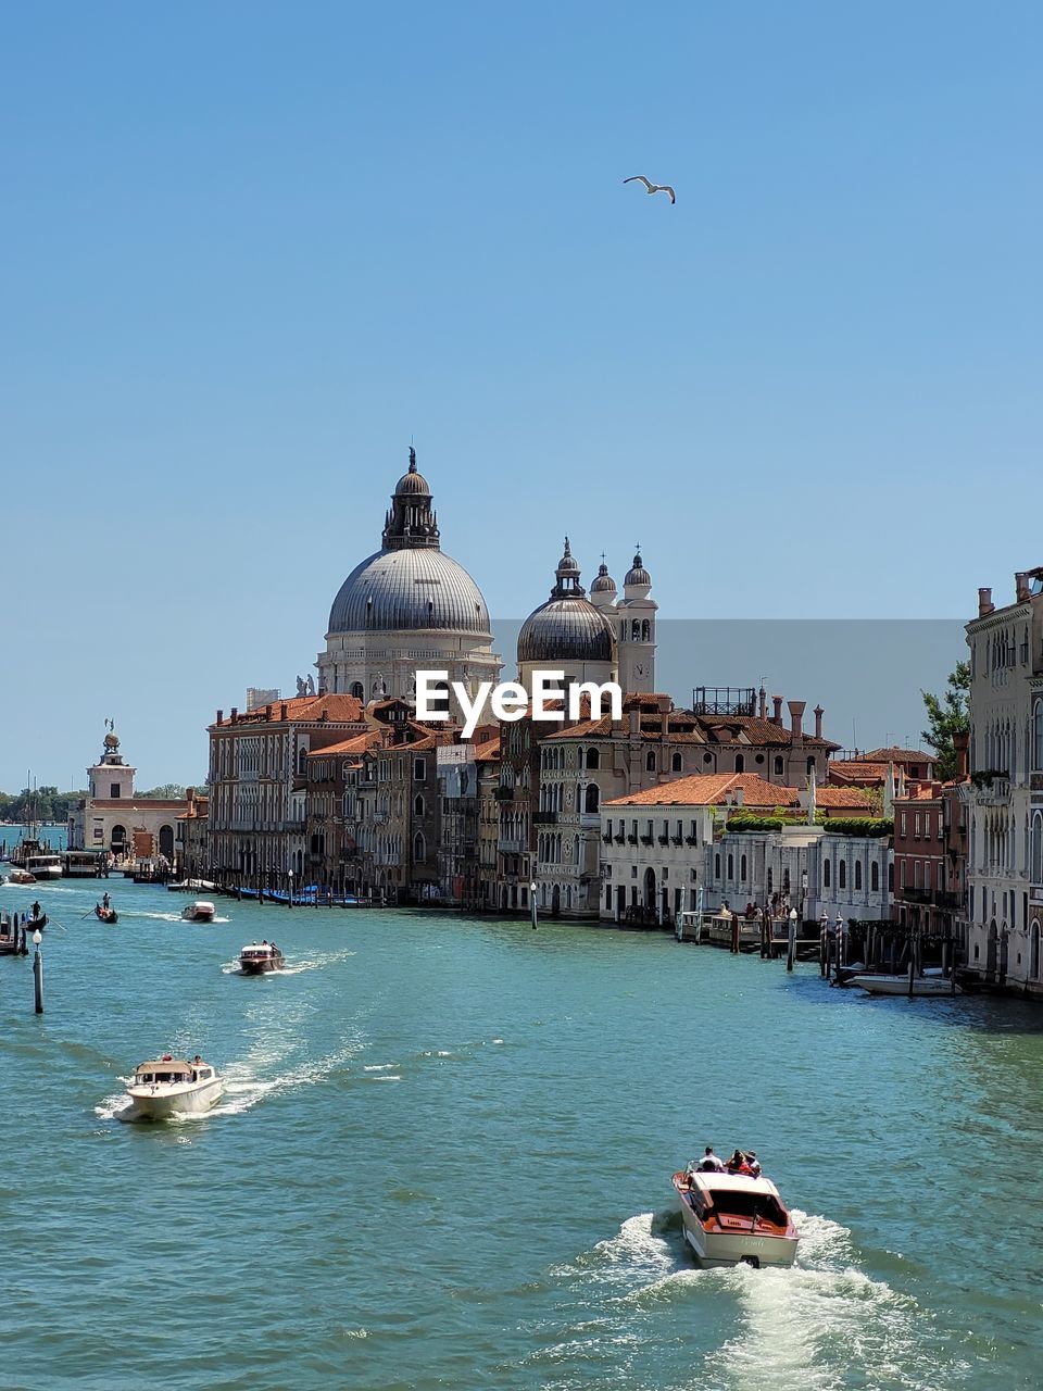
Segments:
[[[395,484],[381,548],[355,566],[330,609],[320,691],[364,702],[413,700],[417,669],[446,670],[473,694],[498,682],[490,615],[470,574],[441,548],[416,451]]]

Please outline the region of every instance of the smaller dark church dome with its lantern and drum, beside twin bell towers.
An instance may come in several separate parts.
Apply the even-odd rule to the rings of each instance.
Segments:
[[[567,536],[551,597],[528,615],[517,636],[519,680],[527,689],[534,670],[563,672],[566,686],[616,679],[612,622],[587,598]]]

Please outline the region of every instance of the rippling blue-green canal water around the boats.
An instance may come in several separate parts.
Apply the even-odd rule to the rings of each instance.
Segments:
[[[0,960],[6,1388],[1040,1384],[1043,1011],[655,933],[38,896],[43,1017]],[[243,978],[261,936],[286,970]],[[225,1097],[122,1124],[165,1049]],[[705,1143],[758,1150],[793,1270],[694,1267]]]

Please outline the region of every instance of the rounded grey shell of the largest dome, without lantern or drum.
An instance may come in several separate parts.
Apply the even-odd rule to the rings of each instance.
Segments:
[[[377,551],[330,609],[330,633],[449,630],[491,637],[485,600],[462,565],[431,547]]]

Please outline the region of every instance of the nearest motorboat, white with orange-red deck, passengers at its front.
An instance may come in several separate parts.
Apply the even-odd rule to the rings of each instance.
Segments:
[[[800,1232],[769,1178],[684,1170],[673,1175],[684,1239],[701,1266],[791,1266]]]

